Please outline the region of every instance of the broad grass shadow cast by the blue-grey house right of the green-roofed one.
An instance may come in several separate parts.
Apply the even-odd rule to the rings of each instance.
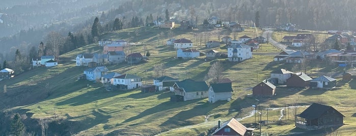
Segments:
[[[190,100],[189,100],[190,101]],[[194,117],[204,116],[209,113],[211,110],[216,107],[221,106],[220,104],[210,104],[210,103],[202,103],[200,105],[195,106],[189,110],[184,110],[169,118],[167,121],[163,122],[159,126],[165,127],[173,127],[173,126],[187,126],[197,124],[197,122],[189,121]],[[201,123],[201,122],[199,122]]]

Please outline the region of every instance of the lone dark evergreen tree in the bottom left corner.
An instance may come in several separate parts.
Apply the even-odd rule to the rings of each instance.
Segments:
[[[10,124],[10,133],[16,136],[22,136],[25,132],[25,126],[21,121],[19,114],[15,114]]]

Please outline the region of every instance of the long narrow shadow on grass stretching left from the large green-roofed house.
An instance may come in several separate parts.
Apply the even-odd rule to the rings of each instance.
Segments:
[[[132,116],[131,118],[126,119],[122,123],[131,122],[131,121],[134,121],[136,119],[140,119],[140,118],[143,118],[145,116],[152,115],[152,114],[155,114],[155,113],[158,113],[158,112],[162,112],[162,111],[166,111],[166,110],[182,107],[182,106],[185,106],[185,105],[188,105],[188,104],[191,104],[191,103],[195,103],[195,102],[197,102],[199,100],[200,99],[195,99],[195,100],[181,101],[181,102],[166,101],[166,102],[163,102],[163,103],[161,103],[161,104],[159,104],[159,105],[157,105],[155,107],[146,109],[145,111],[143,111],[139,115]]]

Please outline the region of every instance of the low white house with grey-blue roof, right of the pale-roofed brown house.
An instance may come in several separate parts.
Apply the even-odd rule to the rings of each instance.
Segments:
[[[320,76],[310,80],[309,86],[312,88],[332,89],[336,87],[336,79],[327,76]]]

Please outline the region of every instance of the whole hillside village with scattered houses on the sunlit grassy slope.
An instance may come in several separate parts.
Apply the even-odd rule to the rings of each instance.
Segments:
[[[319,48],[317,51],[311,51],[307,47],[311,49],[311,44],[315,43],[314,33],[299,33],[293,27],[292,31],[294,31],[295,36],[285,36],[279,42],[286,46],[288,50],[280,50],[270,43],[270,41],[278,41],[272,39],[274,36],[262,36],[265,29],[257,30],[257,28],[241,26],[237,22],[218,19],[211,17],[207,19],[208,24],[197,26],[191,21],[182,20],[175,23],[174,21],[157,18],[153,22],[153,26],[134,29],[145,29],[146,32],[142,30],[144,34],[139,35],[140,37],[149,35],[150,31],[153,31],[152,33],[175,31],[177,35],[166,37],[165,40],[159,38],[152,40],[153,37],[151,37],[147,38],[150,40],[140,38],[142,41],[129,42],[131,39],[120,35],[120,33],[127,31],[119,30],[108,34],[95,44],[62,54],[59,59],[56,59],[54,55],[33,58],[33,69],[24,74],[15,75],[15,71],[5,68],[0,71],[0,78],[4,79],[4,81],[0,81],[3,82],[0,84],[7,84],[10,91],[19,86],[16,85],[16,82],[22,76],[28,76],[29,81],[26,82],[33,84],[33,82],[38,82],[36,79],[38,80],[39,77],[36,76],[45,76],[53,72],[52,78],[56,76],[60,78],[63,73],[70,73],[61,77],[63,79],[48,78],[49,81],[67,83],[70,86],[63,94],[65,98],[51,97],[53,94],[59,94],[59,92],[51,92],[48,98],[39,101],[43,104],[19,107],[19,109],[25,109],[28,111],[27,113],[32,113],[33,118],[42,118],[42,116],[50,118],[53,114],[52,112],[46,113],[49,112],[46,109],[54,107],[56,110],[54,117],[56,118],[99,122],[96,125],[88,125],[84,128],[76,126],[81,130],[75,131],[77,135],[99,133],[152,135],[161,132],[163,132],[161,135],[178,133],[183,135],[266,135],[267,132],[273,135],[291,133],[309,135],[309,132],[311,134],[315,132],[310,130],[325,132],[326,129],[333,127],[336,128],[334,130],[341,132],[355,126],[355,124],[350,125],[350,122],[355,120],[353,113],[345,110],[345,107],[336,107],[338,103],[344,103],[343,101],[333,103],[330,102],[332,100],[316,99],[318,93],[327,97],[326,93],[336,93],[334,95],[337,95],[339,94],[337,91],[348,93],[355,89],[354,85],[351,85],[354,83],[356,74],[356,70],[353,68],[353,64],[356,62],[353,33],[347,34],[342,31],[327,33],[325,35],[331,37],[326,38],[325,42],[320,44],[327,49]],[[290,30],[291,28],[282,29]],[[133,31],[133,28],[128,29],[128,31]],[[206,35],[209,34],[206,34],[205,38],[199,38],[199,36],[192,36],[192,31],[228,32],[219,34],[217,38],[216,36],[207,37]],[[275,31],[273,35],[280,36],[279,32],[283,33],[283,31]],[[126,35],[126,33],[123,35]],[[155,35],[153,36],[155,37]],[[336,45],[339,45],[339,47],[335,47]],[[88,48],[93,50],[89,51]],[[38,75],[30,76],[28,73],[32,71]],[[54,74],[54,72],[58,73]],[[46,83],[45,80],[41,82]],[[57,83],[51,82],[48,84],[54,85]],[[50,87],[47,87],[48,94],[50,94],[48,90]],[[66,87],[54,85],[51,89],[66,90]],[[87,93],[80,94],[81,91]],[[73,93],[77,93],[77,95]],[[98,96],[91,96],[91,93]],[[311,99],[314,100],[297,101],[301,96],[307,95],[303,93],[313,93]],[[121,95],[124,96],[121,98]],[[286,100],[292,95],[299,96],[293,98],[293,100]],[[82,97],[88,100],[80,101]],[[112,102],[105,100],[105,105],[100,104],[104,103],[100,101],[101,98],[110,97],[115,100]],[[130,97],[130,100],[122,101],[122,105],[118,104],[125,106],[124,108],[115,109],[119,107],[116,104],[117,101],[128,97]],[[158,107],[150,104],[147,107],[148,109],[136,109],[132,111],[133,116],[109,114],[110,112],[121,112],[121,110],[134,109],[138,105],[143,105],[130,104],[135,99],[140,99],[141,103],[152,103],[152,98],[158,98],[158,101],[156,101]],[[54,100],[47,102],[50,99]],[[56,100],[58,101],[54,102]],[[96,116],[94,118],[80,117],[80,114],[85,116],[83,111],[86,111],[86,109],[83,107],[77,109],[78,113],[75,114],[61,110],[61,108],[75,108],[74,106],[91,103],[95,103],[95,108],[92,111],[92,116]],[[48,107],[44,108],[45,105],[48,105]],[[65,105],[69,106],[65,107]],[[100,106],[109,105],[110,107],[100,108]],[[92,107],[92,105],[89,107]],[[187,110],[180,109],[182,112],[178,112],[179,107],[187,108]],[[300,109],[297,110],[296,107]],[[194,110],[195,108],[199,110]],[[217,110],[214,110],[215,108]],[[282,109],[276,110],[273,108]],[[158,113],[158,111],[155,111],[157,109],[163,110]],[[288,113],[286,113],[286,109],[288,109]],[[269,120],[268,110],[271,112]],[[291,115],[289,115],[289,110],[294,113],[290,112]],[[152,115],[163,114],[164,112],[174,115],[164,115],[162,117],[163,122],[150,124],[155,120]],[[243,114],[243,112],[245,113]],[[264,115],[265,113],[266,115]],[[282,117],[278,119],[281,113]],[[242,119],[246,114],[251,114],[251,116]],[[349,116],[349,114],[352,114],[352,116]],[[210,117],[211,115],[213,117]],[[257,121],[256,115],[258,116]],[[222,117],[220,118],[220,116]],[[117,123],[111,118],[123,121]],[[148,122],[141,118],[148,120]],[[205,120],[205,123],[200,124],[201,122],[198,120]],[[134,123],[130,124],[131,121]],[[149,127],[150,130],[143,133],[132,132],[133,130],[130,127],[138,127],[141,122],[144,123],[140,126],[141,129]],[[270,126],[268,126],[268,123],[270,123]],[[181,131],[175,130],[183,126],[191,127],[182,128]],[[201,127],[201,129],[197,129],[197,127]],[[277,129],[278,127],[288,129],[288,132],[281,132],[281,129]],[[108,129],[113,131],[108,131]],[[187,129],[197,129],[197,132],[185,133],[184,131],[189,131]],[[167,133],[164,133],[165,131]],[[326,132],[333,133],[334,131],[328,130]]]

